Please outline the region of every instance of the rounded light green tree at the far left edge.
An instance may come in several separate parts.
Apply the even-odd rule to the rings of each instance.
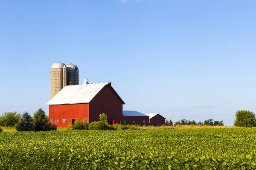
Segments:
[[[20,120],[20,113],[17,112],[7,112],[2,114],[2,124],[6,127],[15,126]]]

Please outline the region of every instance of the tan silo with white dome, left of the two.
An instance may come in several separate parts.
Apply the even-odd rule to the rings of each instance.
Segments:
[[[67,67],[63,62],[55,62],[51,68],[51,98],[67,85]]]

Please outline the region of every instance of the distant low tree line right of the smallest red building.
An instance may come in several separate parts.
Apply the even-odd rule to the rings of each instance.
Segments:
[[[186,120],[186,119],[181,119],[177,122],[173,122],[172,119],[171,120],[167,120],[165,121],[165,125],[166,126],[173,126],[173,125],[210,125],[210,126],[224,126],[223,121],[218,121],[215,120],[213,121],[213,119],[208,119],[205,120],[204,123],[203,122],[195,122],[195,120]]]

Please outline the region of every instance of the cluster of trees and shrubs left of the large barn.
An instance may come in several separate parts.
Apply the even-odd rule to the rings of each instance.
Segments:
[[[30,116],[28,112],[20,113],[7,112],[0,116],[0,126],[16,127],[17,131],[47,131],[57,130],[57,126],[49,122],[44,110],[39,108],[34,116]]]

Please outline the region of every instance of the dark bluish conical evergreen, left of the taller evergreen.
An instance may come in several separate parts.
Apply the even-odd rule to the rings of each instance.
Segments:
[[[32,131],[32,130],[34,130],[33,119],[29,115],[28,112],[23,113],[23,115],[21,116],[21,119],[19,120],[19,122],[16,125],[16,130],[17,131]]]

